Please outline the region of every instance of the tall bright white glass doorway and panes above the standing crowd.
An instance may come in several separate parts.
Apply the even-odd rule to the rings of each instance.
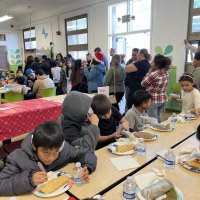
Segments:
[[[151,0],[130,0],[109,6],[109,47],[117,49],[117,53],[131,57],[133,48],[149,50],[150,28]]]

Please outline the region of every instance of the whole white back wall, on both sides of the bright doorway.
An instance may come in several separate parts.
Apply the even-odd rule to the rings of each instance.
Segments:
[[[39,15],[32,16],[32,25],[36,27],[37,47],[48,48],[50,41],[53,41],[54,51],[65,55],[64,19],[88,13],[89,52],[93,52],[95,47],[100,46],[103,52],[108,54],[108,5],[116,2],[120,2],[120,0],[75,1],[67,8],[63,8],[60,14],[58,12],[55,15],[46,13],[46,16],[51,14],[52,17],[45,17],[44,13],[42,13],[42,19],[39,19]],[[185,68],[183,40],[187,35],[188,11],[189,0],[152,0],[151,53],[155,54],[155,46],[161,46],[164,49],[169,44],[173,45],[173,52],[170,55],[173,57],[173,65],[178,68],[177,77],[183,73]],[[29,24],[25,23],[21,29],[27,27]],[[47,39],[44,39],[41,34],[42,27],[46,27],[49,31]],[[56,35],[58,30],[61,31],[60,36]],[[22,42],[21,45],[23,45]]]

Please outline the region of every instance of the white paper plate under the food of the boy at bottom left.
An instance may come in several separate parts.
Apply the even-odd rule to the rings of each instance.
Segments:
[[[61,174],[61,172],[59,172],[59,171],[56,171],[54,173],[57,175],[57,177]],[[67,176],[68,178],[71,178],[71,176],[69,174],[64,174],[64,175]],[[67,190],[69,190],[69,188],[72,186],[72,180],[69,180],[68,183],[64,184],[63,186],[58,188],[56,191],[54,191],[50,194],[44,194],[44,193],[41,193],[38,191],[38,189],[45,184],[46,183],[42,183],[42,184],[38,185],[37,188],[32,191],[32,193],[34,195],[36,195],[37,197],[42,197],[42,198],[54,197],[54,196],[60,195],[62,193],[65,193]]]

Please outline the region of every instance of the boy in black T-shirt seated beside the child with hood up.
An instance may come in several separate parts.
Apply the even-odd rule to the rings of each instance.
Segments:
[[[111,105],[107,96],[103,94],[95,95],[92,99],[91,108],[99,117],[100,137],[97,149],[115,142],[116,138],[122,137],[117,131],[118,123],[121,124],[123,129],[129,130],[127,120]]]

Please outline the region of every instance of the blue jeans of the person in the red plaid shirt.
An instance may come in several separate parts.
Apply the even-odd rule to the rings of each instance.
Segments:
[[[164,107],[166,105],[165,103],[152,103],[149,109],[147,110],[147,113],[149,117],[154,117],[158,120],[158,123],[161,122],[161,113],[164,110]]]

